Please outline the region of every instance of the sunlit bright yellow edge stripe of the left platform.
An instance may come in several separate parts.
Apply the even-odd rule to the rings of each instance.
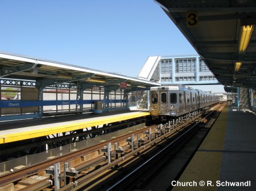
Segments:
[[[22,141],[25,139],[36,138],[36,137],[43,137],[46,135],[63,133],[63,132],[72,131],[72,130],[79,130],[79,129],[89,128],[97,125],[110,124],[117,121],[125,121],[125,120],[130,120],[131,118],[138,118],[138,117],[143,117],[148,115],[150,115],[150,112],[140,112],[136,114],[131,113],[125,116],[101,118],[100,120],[79,122],[76,124],[61,125],[61,126],[55,126],[51,128],[45,128],[45,129],[36,129],[36,130],[24,131],[20,133],[5,134],[5,135],[0,135],[1,136],[0,144],[10,143],[15,141]]]

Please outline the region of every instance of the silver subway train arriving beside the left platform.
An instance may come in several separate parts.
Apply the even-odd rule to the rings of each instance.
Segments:
[[[150,88],[151,116],[161,120],[177,118],[218,102],[219,97],[215,94],[183,85]]]

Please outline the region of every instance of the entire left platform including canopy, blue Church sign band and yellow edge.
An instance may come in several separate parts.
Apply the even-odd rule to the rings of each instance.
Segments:
[[[144,95],[160,85],[3,52],[0,70],[0,145],[148,116],[149,112],[129,109],[146,111],[148,105],[141,104]],[[106,113],[85,114],[96,111]]]

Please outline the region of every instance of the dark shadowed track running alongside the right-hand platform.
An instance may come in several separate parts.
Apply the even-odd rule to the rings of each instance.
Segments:
[[[179,151],[179,148],[183,147],[183,145],[187,143],[188,139],[190,139],[196,133],[196,131],[199,129],[198,125],[200,122],[208,120],[208,118],[210,118],[215,111],[220,112],[223,107],[224,105],[220,105],[220,107],[216,108],[216,110],[214,109],[213,111],[209,112],[201,121],[187,127],[187,129],[184,129],[180,135],[174,137],[171,142],[167,143],[160,151],[156,152],[144,163],[139,165],[122,179],[115,182],[106,190],[133,190],[135,186],[140,187],[142,182],[148,182],[148,179],[151,179],[151,176],[155,175],[155,172],[163,168],[166,163],[168,163],[168,160],[170,160],[176,154],[176,152]],[[211,124],[213,124],[214,121],[212,121]],[[139,189],[143,189],[143,186]]]

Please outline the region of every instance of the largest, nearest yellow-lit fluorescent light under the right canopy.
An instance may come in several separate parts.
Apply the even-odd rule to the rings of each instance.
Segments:
[[[249,41],[251,39],[251,33],[253,33],[253,25],[241,26],[241,36],[239,41],[239,53],[245,53]]]

